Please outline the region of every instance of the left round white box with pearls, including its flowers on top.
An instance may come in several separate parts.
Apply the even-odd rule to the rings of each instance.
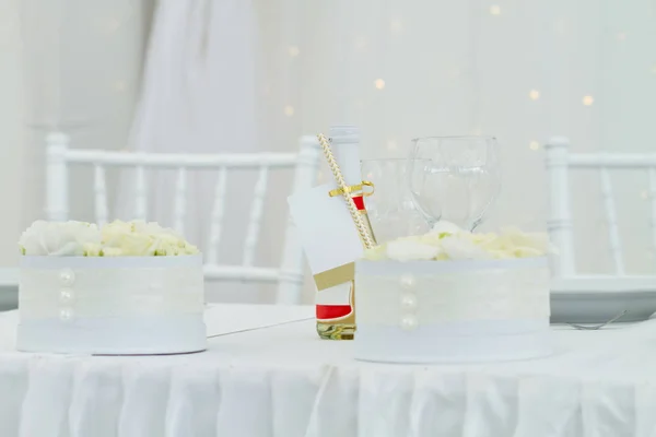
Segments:
[[[26,352],[176,354],[207,347],[202,257],[157,223],[37,221],[19,241]]]

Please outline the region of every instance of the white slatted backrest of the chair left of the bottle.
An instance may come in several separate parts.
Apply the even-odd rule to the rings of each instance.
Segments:
[[[215,169],[218,178],[210,222],[210,241],[203,267],[206,279],[278,283],[277,303],[298,304],[301,302],[303,252],[290,221],[288,221],[285,229],[280,268],[259,268],[253,265],[253,262],[260,234],[269,172],[294,169],[293,190],[312,187],[318,174],[320,151],[316,138],[303,137],[298,153],[163,154],[80,150],[69,149],[69,138],[61,132],[49,133],[46,142],[46,215],[51,221],[68,220],[70,164],[89,165],[94,169],[94,210],[98,224],[106,223],[108,220],[105,178],[107,167],[134,169],[134,218],[139,220],[147,220],[148,216],[147,170],[166,168],[177,172],[173,194],[173,217],[174,227],[184,234],[188,173],[195,169]],[[225,187],[231,169],[257,172],[241,265],[224,265],[218,262],[218,248],[223,233]],[[286,204],[281,208],[286,208]]]

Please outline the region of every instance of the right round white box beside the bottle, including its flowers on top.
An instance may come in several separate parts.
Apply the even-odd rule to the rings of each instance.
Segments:
[[[468,363],[552,352],[544,234],[440,223],[355,261],[359,359]]]

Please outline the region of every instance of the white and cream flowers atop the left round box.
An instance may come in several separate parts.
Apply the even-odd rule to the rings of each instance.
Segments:
[[[36,221],[19,240],[25,256],[157,257],[197,255],[199,250],[159,223],[115,221],[102,227],[85,222]]]

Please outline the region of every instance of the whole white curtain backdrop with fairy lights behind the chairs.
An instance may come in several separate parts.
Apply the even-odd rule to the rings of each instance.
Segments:
[[[363,155],[380,157],[403,155],[417,135],[494,134],[504,187],[485,226],[529,229],[544,228],[550,135],[570,137],[577,152],[656,151],[654,0],[160,0],[142,88],[149,3],[21,4],[26,119],[39,129],[30,132],[58,123],[74,146],[291,151],[302,133],[353,122]],[[31,138],[26,160],[43,152]],[[42,177],[24,176],[26,217],[40,215]],[[578,263],[609,271],[597,175],[572,181]],[[646,177],[612,181],[628,269],[654,272]],[[89,217],[89,192],[75,190],[73,212]],[[199,189],[196,202],[206,197]],[[271,201],[269,228],[282,228],[285,208]],[[222,247],[229,258],[234,238]],[[265,243],[271,262],[278,244]]]

